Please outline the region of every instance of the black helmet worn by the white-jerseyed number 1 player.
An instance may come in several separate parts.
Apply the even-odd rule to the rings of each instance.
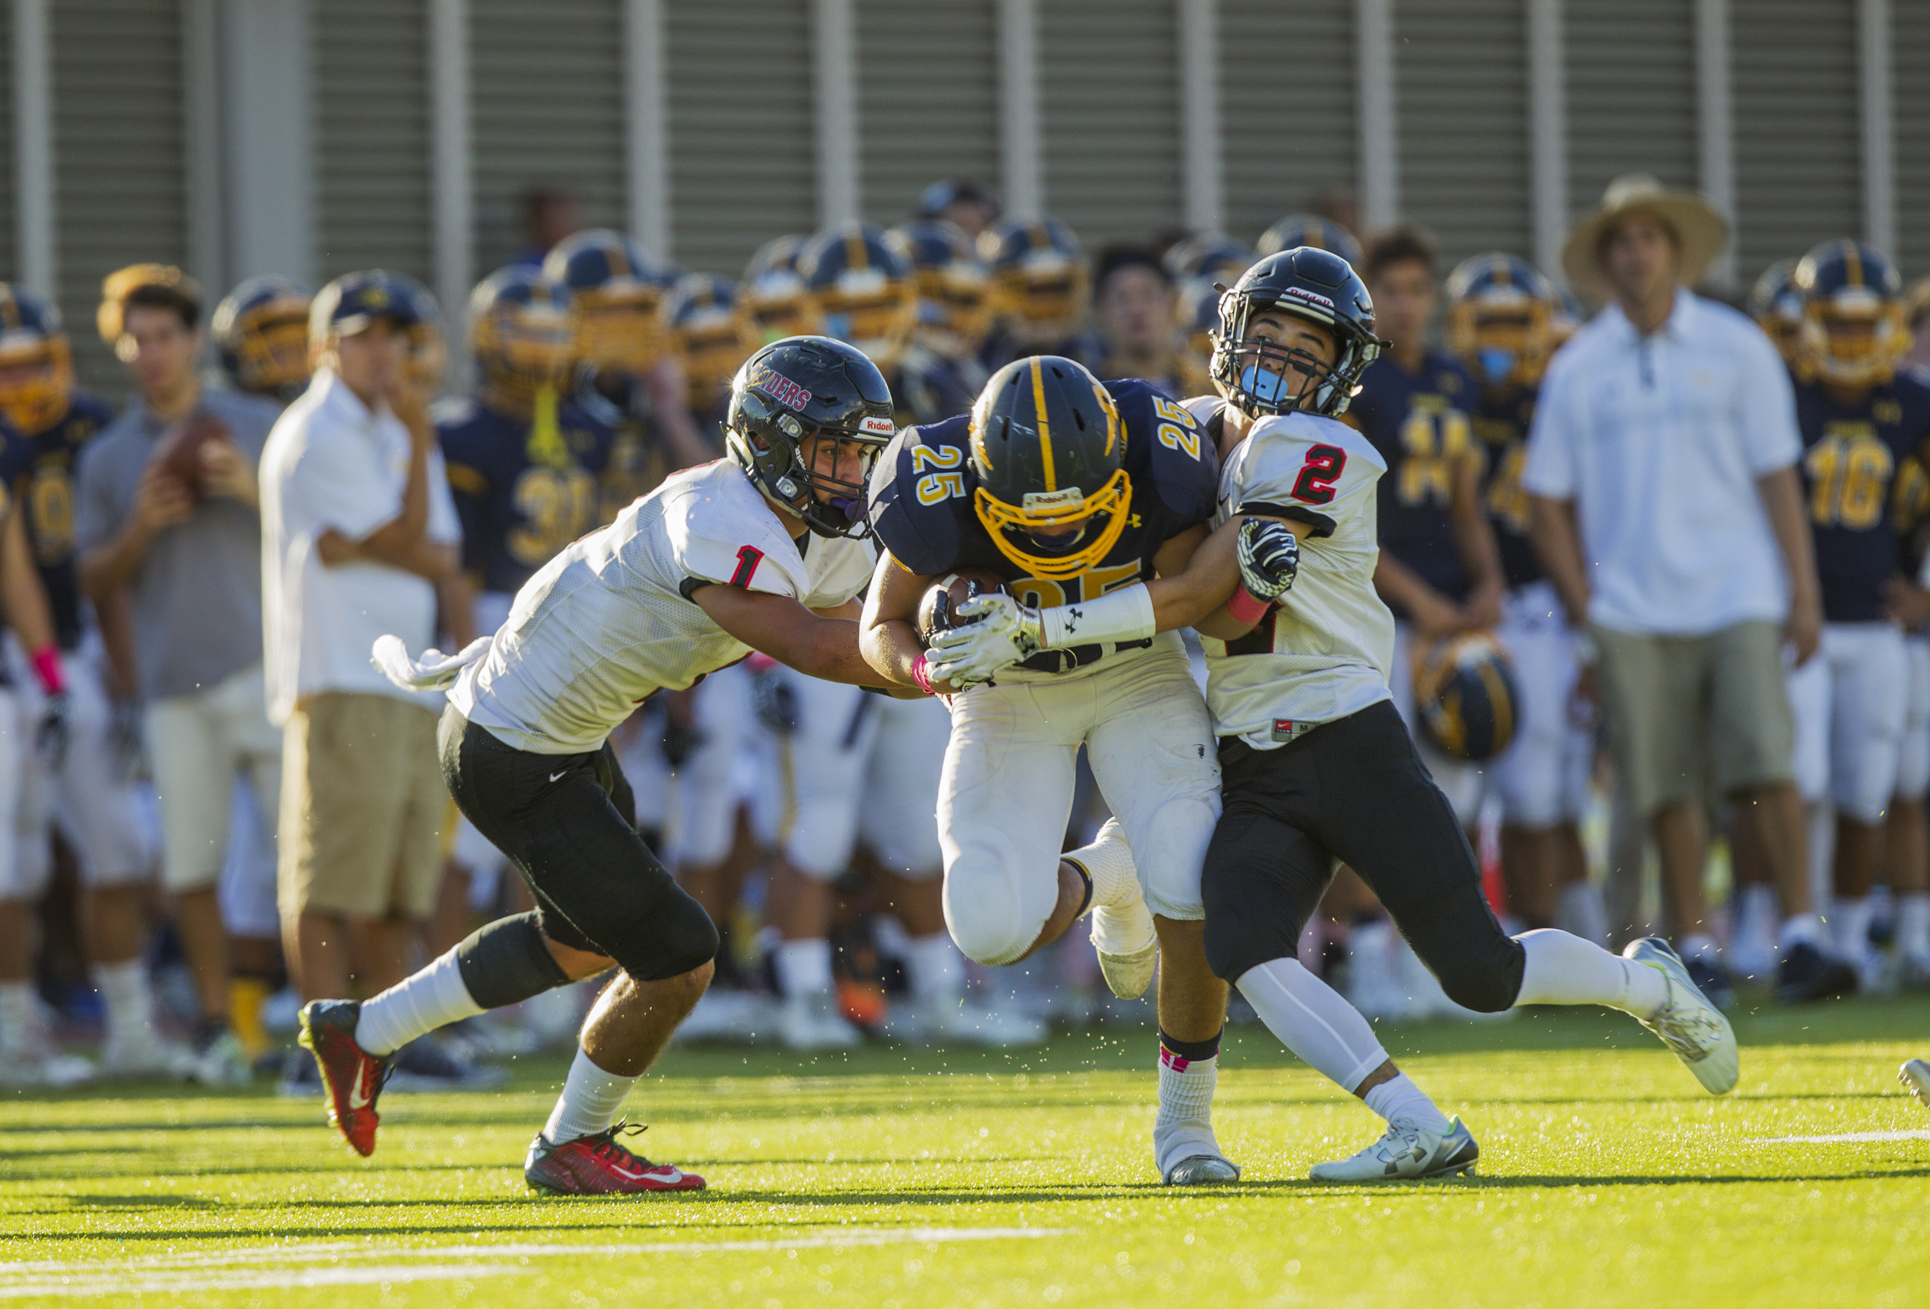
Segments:
[[[897,436],[892,387],[865,351],[824,335],[793,335],[751,355],[731,380],[724,449],[766,495],[789,505],[818,536],[870,534],[865,482]],[[863,441],[855,476],[820,476],[805,443],[816,436]],[[826,492],[830,501],[820,501]]]

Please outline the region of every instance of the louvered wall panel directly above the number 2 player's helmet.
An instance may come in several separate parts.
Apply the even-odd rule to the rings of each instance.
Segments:
[[[1256,239],[1322,191],[1355,185],[1353,4],[1222,0],[1226,229]]]

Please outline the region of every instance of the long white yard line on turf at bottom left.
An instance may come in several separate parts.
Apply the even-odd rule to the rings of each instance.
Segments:
[[[708,1251],[824,1249],[843,1245],[921,1245],[930,1242],[998,1242],[1071,1236],[1071,1228],[847,1228],[836,1234],[768,1238],[747,1242],[629,1242],[623,1245],[531,1243],[502,1245],[361,1245],[357,1242],[318,1242],[313,1245],[249,1245],[230,1251],[183,1255],[137,1255],[122,1261],[87,1259],[0,1263],[0,1299],[21,1296],[108,1296],[124,1292],[270,1290],[299,1286],[344,1286],[372,1282],[421,1282],[434,1278],[502,1276],[521,1272],[515,1265],[390,1265],[349,1269],[307,1269],[245,1272],[249,1263],[322,1263],[344,1259],[546,1259],[583,1255],[703,1255]],[[114,1272],[112,1269],[120,1269]],[[208,1269],[210,1272],[170,1272],[170,1269]],[[222,1270],[232,1269],[232,1270]],[[64,1274],[60,1280],[50,1276]]]

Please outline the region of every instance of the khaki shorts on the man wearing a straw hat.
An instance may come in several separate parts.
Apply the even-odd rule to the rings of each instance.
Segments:
[[[1795,777],[1783,632],[1737,623],[1708,636],[1596,627],[1615,769],[1642,817]],[[1706,783],[1706,785],[1704,785]]]

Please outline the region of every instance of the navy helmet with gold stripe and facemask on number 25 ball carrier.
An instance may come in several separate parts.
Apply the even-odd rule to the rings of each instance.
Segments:
[[[1029,576],[1098,565],[1125,530],[1133,484],[1112,393],[1058,355],[1015,359],[971,407],[973,509]]]

